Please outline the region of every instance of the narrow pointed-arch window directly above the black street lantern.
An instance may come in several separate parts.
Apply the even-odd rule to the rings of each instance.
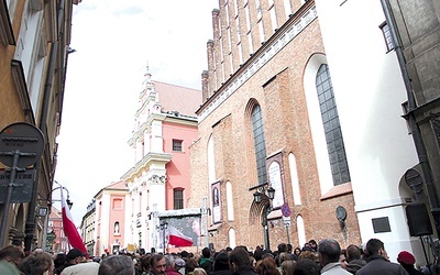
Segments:
[[[252,131],[254,134],[255,161],[258,185],[262,185],[267,183],[266,142],[264,140],[262,111],[258,105],[256,105],[252,109]]]

